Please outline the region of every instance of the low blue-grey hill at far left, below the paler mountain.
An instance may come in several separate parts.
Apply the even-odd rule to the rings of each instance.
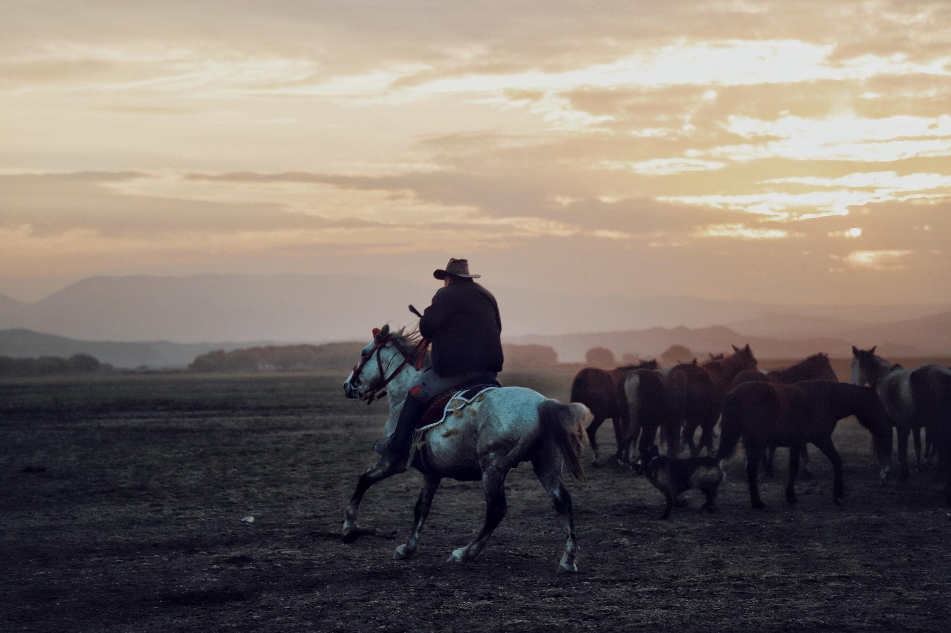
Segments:
[[[183,368],[196,356],[211,350],[233,350],[251,343],[146,343],[74,340],[31,330],[0,331],[0,355],[14,358],[87,354],[118,368],[147,365],[152,369]]]

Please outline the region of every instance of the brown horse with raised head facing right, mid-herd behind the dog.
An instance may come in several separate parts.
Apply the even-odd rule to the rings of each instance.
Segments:
[[[683,421],[684,442],[690,456],[696,457],[705,447],[713,452],[713,427],[720,417],[720,408],[734,378],[756,369],[756,356],[749,345],[733,347],[733,354],[723,360],[709,360],[703,365],[677,365],[667,374],[666,388],[673,406],[673,416]],[[693,434],[701,429],[700,443],[693,443]]]

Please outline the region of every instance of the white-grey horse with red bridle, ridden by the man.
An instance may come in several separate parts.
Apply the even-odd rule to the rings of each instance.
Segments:
[[[360,352],[360,363],[343,383],[343,390],[349,398],[372,401],[385,386],[390,403],[386,421],[389,434],[396,428],[406,394],[417,384],[429,359],[417,362],[417,354],[421,353],[417,338],[403,330],[391,333],[389,326],[383,326],[374,335],[373,341]],[[394,559],[404,560],[416,554],[423,523],[443,477],[482,481],[487,504],[485,523],[476,538],[456,549],[448,562],[475,559],[505,516],[506,475],[521,462],[531,461],[564,523],[565,553],[557,571],[577,571],[572,495],[562,483],[561,469],[564,462],[575,479],[584,481],[578,452],[584,436],[581,425],[588,416],[588,408],[579,403],[563,405],[531,389],[502,387],[487,392],[470,410],[460,416],[451,412],[446,423],[423,437],[413,462],[425,480],[419,491],[416,525],[409,540],[397,547]],[[380,459],[360,475],[357,489],[343,512],[344,543],[359,536],[357,515],[363,494],[397,470],[393,463]]]

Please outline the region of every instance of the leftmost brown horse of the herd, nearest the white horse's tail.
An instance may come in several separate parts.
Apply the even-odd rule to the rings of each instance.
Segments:
[[[623,438],[626,432],[621,426],[621,405],[617,399],[617,383],[629,372],[637,369],[656,369],[656,360],[642,360],[639,365],[624,365],[613,370],[602,370],[596,367],[586,367],[574,376],[572,381],[572,402],[580,402],[592,412],[594,419],[588,425],[588,440],[592,445],[593,466],[601,466],[601,455],[598,451],[595,435],[598,428],[607,418],[611,418],[614,426],[614,439],[617,441],[615,457],[621,459]]]

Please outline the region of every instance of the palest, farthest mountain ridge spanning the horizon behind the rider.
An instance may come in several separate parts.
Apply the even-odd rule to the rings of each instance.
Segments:
[[[514,288],[484,279],[498,299],[503,335],[620,332],[653,327],[706,328],[751,323],[767,313],[885,322],[928,317],[951,304],[802,306],[694,297],[569,297],[556,283]],[[25,328],[82,340],[362,340],[386,321],[415,319],[438,285],[350,275],[198,275],[96,277],[35,303],[0,297],[0,328]],[[744,329],[734,327],[741,333]],[[750,330],[749,334],[757,334]],[[757,335],[760,336],[760,335]],[[784,336],[782,332],[762,336]],[[809,336],[833,336],[816,332]],[[912,344],[909,342],[909,344]]]

